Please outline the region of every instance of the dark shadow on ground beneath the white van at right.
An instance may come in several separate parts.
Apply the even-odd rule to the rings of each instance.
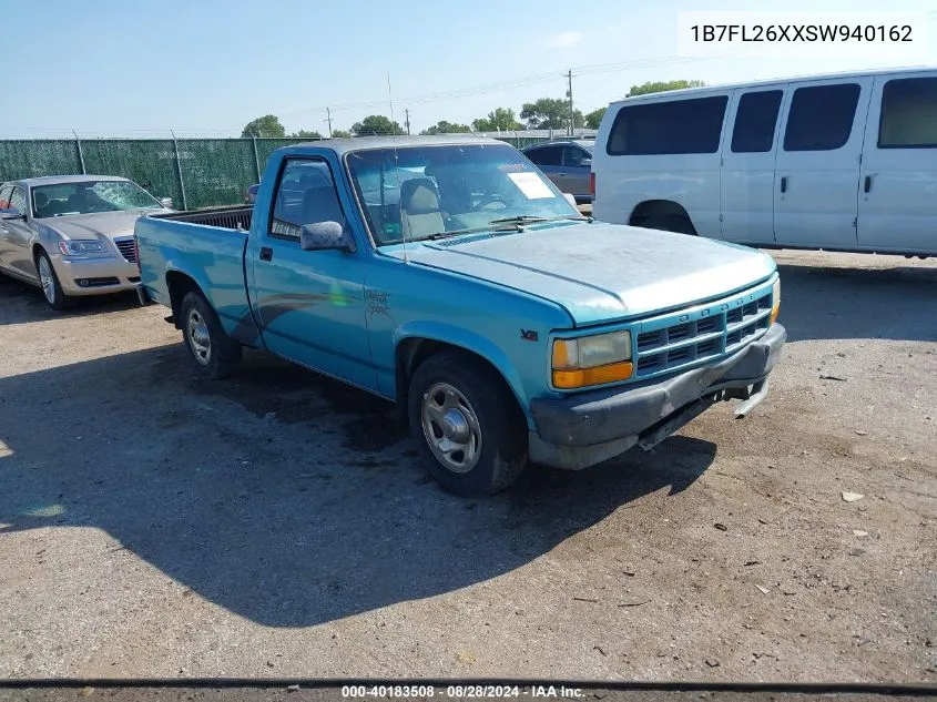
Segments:
[[[841,268],[780,264],[788,342],[937,340],[937,268]]]

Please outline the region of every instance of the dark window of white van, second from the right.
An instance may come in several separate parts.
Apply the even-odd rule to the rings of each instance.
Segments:
[[[856,105],[857,83],[808,85],[794,91],[784,151],[833,151],[849,141]]]

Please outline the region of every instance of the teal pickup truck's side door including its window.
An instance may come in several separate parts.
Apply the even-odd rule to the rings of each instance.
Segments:
[[[376,389],[365,323],[360,250],[348,253],[299,247],[304,224],[335,221],[347,226],[328,162],[320,157],[287,159],[271,210],[268,221],[252,228],[256,241],[246,254],[252,302],[264,344],[271,352],[315,370]]]

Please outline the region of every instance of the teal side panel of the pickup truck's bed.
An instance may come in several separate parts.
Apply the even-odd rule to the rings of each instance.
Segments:
[[[171,286],[189,278],[228,334],[256,342],[244,279],[252,213],[251,206],[237,206],[140,217],[134,235],[146,294],[172,307]]]

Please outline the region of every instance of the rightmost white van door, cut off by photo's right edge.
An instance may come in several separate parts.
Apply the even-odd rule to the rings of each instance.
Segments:
[[[937,71],[876,77],[858,216],[859,248],[937,254]]]

